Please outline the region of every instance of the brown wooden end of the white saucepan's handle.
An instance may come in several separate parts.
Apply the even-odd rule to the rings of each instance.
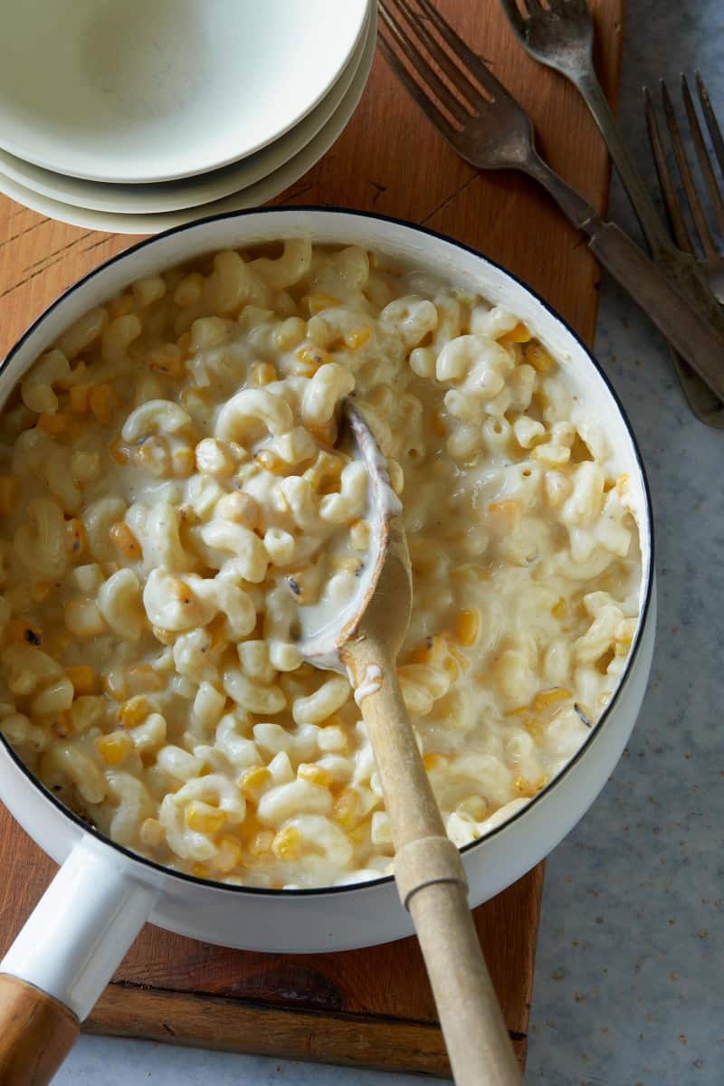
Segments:
[[[8,973],[0,974],[0,1083],[47,1086],[80,1031],[73,1011]]]

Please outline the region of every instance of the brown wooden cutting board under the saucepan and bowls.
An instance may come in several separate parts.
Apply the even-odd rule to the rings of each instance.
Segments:
[[[597,65],[615,98],[624,0],[594,0]],[[596,206],[609,168],[575,91],[516,45],[496,0],[440,0],[533,115],[541,150]],[[378,54],[338,143],[276,203],[398,215],[474,245],[520,275],[590,341],[598,270],[547,197],[511,174],[459,160]],[[79,230],[0,200],[0,351],[63,289],[135,239]],[[0,954],[53,864],[0,809]],[[533,984],[543,868],[475,910],[521,1062]],[[336,955],[242,954],[147,926],[86,1022],[90,1033],[150,1037],[278,1057],[449,1073],[414,940]]]

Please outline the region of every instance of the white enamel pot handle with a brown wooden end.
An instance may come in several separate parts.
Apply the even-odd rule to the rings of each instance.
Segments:
[[[45,1086],[148,920],[158,889],[82,837],[0,961],[0,1083]]]

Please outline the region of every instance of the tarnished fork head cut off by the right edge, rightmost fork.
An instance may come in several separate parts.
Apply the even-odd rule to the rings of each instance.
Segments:
[[[724,138],[722,138],[722,131],[719,127],[716,115],[711,106],[711,101],[709,99],[709,94],[707,93],[703,79],[698,72],[696,80],[699,102],[707,121],[707,127],[711,136],[712,147],[719,160],[720,169],[724,174]],[[682,99],[684,101],[684,109],[686,111],[691,142],[694,143],[694,149],[697,154],[701,176],[703,177],[707,191],[709,192],[714,219],[721,236],[724,237],[724,199],[722,198],[719,181],[716,180],[716,174],[714,173],[714,167],[709,157],[709,152],[707,151],[703,132],[701,131],[701,125],[699,124],[699,118],[696,113],[694,101],[691,99],[691,92],[685,75],[682,75]],[[709,279],[709,285],[713,291],[714,298],[724,304],[724,257],[721,255],[707,223],[707,213],[703,204],[701,203],[701,198],[699,197],[699,191],[697,189],[696,181],[694,180],[694,174],[688,159],[686,157],[686,150],[684,148],[684,141],[682,139],[678,122],[674,112],[674,105],[663,79],[661,80],[661,100],[663,102],[663,113],[666,121],[666,127],[669,128],[669,135],[671,136],[671,143],[674,150],[674,157],[678,167],[682,185],[684,186],[686,202],[691,213],[694,226],[703,252],[703,257],[699,260],[699,263]],[[690,253],[696,257],[697,251],[686,226],[684,209],[678,199],[676,186],[669,168],[659,125],[656,118],[656,112],[647,88],[644,88],[644,109],[646,112],[646,126],[648,128],[649,142],[651,144],[656,172],[659,176],[661,195],[663,197],[663,201],[666,205],[674,237],[676,238],[679,249],[683,249],[685,252]]]

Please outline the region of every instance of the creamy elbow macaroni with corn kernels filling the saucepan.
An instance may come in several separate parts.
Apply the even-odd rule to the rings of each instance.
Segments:
[[[345,396],[403,496],[398,673],[456,844],[595,725],[640,556],[606,434],[513,314],[358,247],[270,252],[132,285],[7,405],[0,731],[114,841],[274,888],[392,864],[348,682],[294,644],[369,550]]]

